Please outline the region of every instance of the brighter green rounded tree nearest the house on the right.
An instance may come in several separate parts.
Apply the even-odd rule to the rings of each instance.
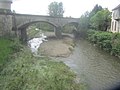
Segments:
[[[106,8],[98,11],[93,17],[90,19],[92,27],[97,30],[107,31],[110,26],[111,21],[111,12]]]

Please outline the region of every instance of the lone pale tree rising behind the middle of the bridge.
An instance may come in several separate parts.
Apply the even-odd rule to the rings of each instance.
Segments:
[[[56,16],[56,17],[63,17],[63,3],[60,2],[52,2],[50,3],[50,5],[48,6],[48,13],[50,16]]]

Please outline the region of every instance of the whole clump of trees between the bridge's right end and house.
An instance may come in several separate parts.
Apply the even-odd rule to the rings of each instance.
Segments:
[[[88,29],[107,31],[110,28],[111,12],[107,8],[102,8],[96,4],[91,12],[86,12],[80,17],[79,34],[86,36]],[[80,35],[80,36],[81,36]],[[90,38],[96,39],[96,36]],[[93,42],[96,41],[93,39]]]

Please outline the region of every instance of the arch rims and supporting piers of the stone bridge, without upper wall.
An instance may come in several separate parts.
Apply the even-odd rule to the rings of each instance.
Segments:
[[[64,24],[63,26],[57,26],[56,24],[52,23],[52,22],[49,22],[49,21],[27,21],[21,25],[18,26],[18,31],[19,31],[19,36],[21,37],[21,39],[23,41],[26,41],[27,40],[27,28],[32,25],[32,24],[35,24],[35,23],[39,23],[39,22],[45,22],[45,23],[48,23],[50,25],[52,25],[54,27],[54,32],[55,32],[55,35],[57,37],[61,37],[61,29],[65,26],[65,25],[68,25],[68,24],[72,24],[75,26],[75,28],[72,30],[72,32],[74,32],[74,30],[77,30],[77,27],[78,27],[78,23],[77,22],[67,22],[66,24]]]

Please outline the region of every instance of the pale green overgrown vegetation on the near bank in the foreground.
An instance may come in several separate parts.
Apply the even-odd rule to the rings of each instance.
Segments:
[[[0,72],[0,90],[85,90],[63,62],[33,57],[27,48]]]

